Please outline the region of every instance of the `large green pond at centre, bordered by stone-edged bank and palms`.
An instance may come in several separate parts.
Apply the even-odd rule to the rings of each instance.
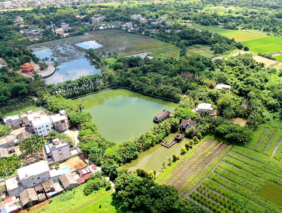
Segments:
[[[176,103],[144,96],[125,89],[106,90],[73,100],[82,103],[106,140],[119,143],[149,131],[153,117],[164,109],[174,111]]]

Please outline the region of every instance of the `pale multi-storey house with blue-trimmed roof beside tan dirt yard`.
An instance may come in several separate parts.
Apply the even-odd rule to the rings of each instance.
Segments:
[[[58,138],[52,140],[53,142],[48,143],[49,150],[46,153],[51,153],[54,162],[64,161],[71,157],[70,145],[68,142],[63,142]]]

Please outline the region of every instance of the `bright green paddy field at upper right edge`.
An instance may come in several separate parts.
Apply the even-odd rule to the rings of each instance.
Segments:
[[[256,53],[278,52],[282,50],[282,38],[275,36],[242,41],[242,44],[244,46],[247,45],[251,51]]]

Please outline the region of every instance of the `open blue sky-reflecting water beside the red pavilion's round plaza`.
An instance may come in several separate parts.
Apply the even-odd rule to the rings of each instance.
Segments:
[[[47,84],[58,84],[68,79],[78,79],[82,75],[94,75],[100,73],[99,64],[90,59],[73,61],[69,63],[60,64],[56,67],[53,75],[44,78]]]

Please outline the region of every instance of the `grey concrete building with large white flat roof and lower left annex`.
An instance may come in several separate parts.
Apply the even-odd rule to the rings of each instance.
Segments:
[[[9,195],[18,195],[24,189],[41,185],[51,178],[49,166],[44,160],[17,169],[17,174],[5,180]]]

